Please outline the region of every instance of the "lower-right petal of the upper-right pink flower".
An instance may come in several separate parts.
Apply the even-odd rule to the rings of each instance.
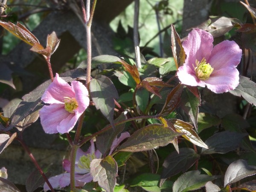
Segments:
[[[205,80],[205,83],[208,89],[214,93],[234,90],[239,84],[239,71],[233,67],[213,71],[210,78]]]

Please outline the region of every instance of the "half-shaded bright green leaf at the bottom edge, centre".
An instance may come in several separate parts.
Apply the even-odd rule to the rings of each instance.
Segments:
[[[160,175],[143,173],[131,181],[131,186],[140,186],[148,192],[172,191],[172,181],[166,181],[161,187],[158,186]]]

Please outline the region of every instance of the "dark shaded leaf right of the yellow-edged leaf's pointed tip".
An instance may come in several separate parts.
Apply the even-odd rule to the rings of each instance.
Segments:
[[[216,133],[205,141],[205,144],[207,144],[209,148],[202,148],[201,154],[225,154],[229,151],[233,151],[239,147],[242,138],[246,135],[247,134],[230,131]]]

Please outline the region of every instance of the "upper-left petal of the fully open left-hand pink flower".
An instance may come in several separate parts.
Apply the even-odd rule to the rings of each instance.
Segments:
[[[73,98],[75,97],[75,92],[71,86],[56,73],[53,82],[45,90],[42,101],[49,104],[64,103],[64,97]]]

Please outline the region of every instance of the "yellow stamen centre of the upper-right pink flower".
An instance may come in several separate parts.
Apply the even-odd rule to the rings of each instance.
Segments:
[[[195,75],[200,80],[206,80],[209,79],[210,75],[212,74],[213,68],[212,66],[206,62],[206,59],[203,58],[201,62],[199,62],[197,59],[195,60]]]

